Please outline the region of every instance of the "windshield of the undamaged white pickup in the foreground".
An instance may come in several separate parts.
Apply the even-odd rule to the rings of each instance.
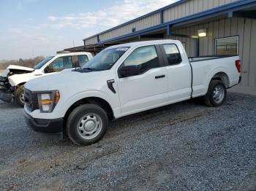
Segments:
[[[86,63],[82,69],[101,71],[110,69],[129,47],[118,47],[102,50],[91,61]]]

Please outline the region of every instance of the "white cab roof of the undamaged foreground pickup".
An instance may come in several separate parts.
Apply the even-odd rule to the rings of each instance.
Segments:
[[[129,42],[125,44],[117,44],[111,47],[108,47],[107,49],[110,48],[117,48],[117,47],[137,47],[137,46],[143,46],[147,44],[164,44],[164,43],[174,43],[178,42],[177,40],[173,39],[165,39],[165,40],[151,40],[151,41],[140,41],[140,42]]]

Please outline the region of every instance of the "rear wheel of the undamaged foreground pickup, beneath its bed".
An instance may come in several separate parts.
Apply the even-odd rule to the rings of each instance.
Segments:
[[[222,106],[226,99],[227,89],[220,80],[212,80],[206,93],[205,104],[207,106]]]

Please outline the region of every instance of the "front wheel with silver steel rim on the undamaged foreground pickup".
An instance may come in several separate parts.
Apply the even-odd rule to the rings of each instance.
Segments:
[[[108,115],[100,106],[84,104],[75,108],[67,118],[66,132],[78,145],[94,144],[105,135]]]

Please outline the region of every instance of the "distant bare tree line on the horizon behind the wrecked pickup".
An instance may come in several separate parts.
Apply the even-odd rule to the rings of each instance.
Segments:
[[[16,66],[25,66],[29,68],[34,68],[37,63],[44,60],[45,57],[43,56],[37,56],[36,58],[29,58],[29,59],[22,59],[19,60],[12,60],[12,61],[1,61],[0,62],[0,70],[6,69],[10,65],[16,65]]]

